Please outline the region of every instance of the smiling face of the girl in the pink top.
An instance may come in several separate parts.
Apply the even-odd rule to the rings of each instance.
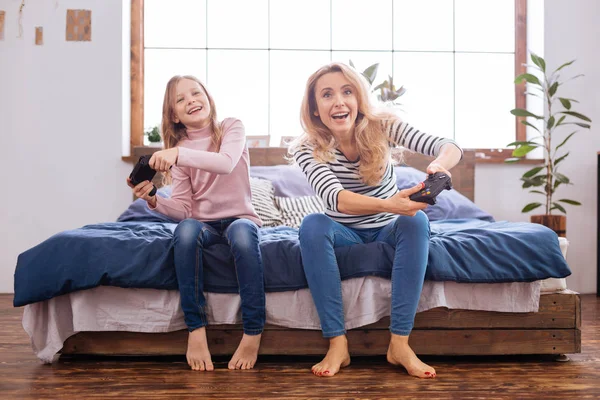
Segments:
[[[200,84],[191,79],[181,79],[175,88],[173,120],[188,129],[200,129],[210,123],[210,103]]]

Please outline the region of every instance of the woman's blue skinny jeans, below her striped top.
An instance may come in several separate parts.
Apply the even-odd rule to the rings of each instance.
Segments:
[[[325,214],[304,217],[300,252],[323,336],[346,333],[342,281],[334,249],[357,243],[385,242],[395,248],[392,266],[390,331],[408,336],[413,328],[429,255],[429,219],[419,211],[399,216],[382,228],[352,229]]]

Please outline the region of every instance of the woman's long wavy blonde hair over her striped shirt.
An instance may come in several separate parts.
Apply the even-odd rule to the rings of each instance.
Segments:
[[[379,111],[369,101],[368,84],[362,75],[342,63],[331,63],[319,68],[306,82],[306,90],[300,110],[300,123],[304,133],[290,144],[293,153],[304,144],[314,148],[313,157],[321,162],[335,159],[337,146],[335,137],[321,118],[315,115],[317,99],[315,86],[319,78],[332,72],[341,72],[354,86],[358,100],[358,115],[354,127],[354,139],[360,157],[359,173],[367,185],[376,185],[381,181],[390,158],[389,140],[384,132],[384,123],[397,117],[385,111]]]

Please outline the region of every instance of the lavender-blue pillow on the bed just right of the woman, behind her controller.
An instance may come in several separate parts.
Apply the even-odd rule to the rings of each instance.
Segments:
[[[412,167],[397,166],[396,184],[399,189],[407,189],[427,179],[427,174]],[[450,171],[452,173],[452,171]],[[475,203],[460,194],[455,189],[444,190],[436,197],[437,203],[427,207],[425,214],[430,221],[444,219],[475,218],[482,221],[494,222],[494,217],[477,207]]]

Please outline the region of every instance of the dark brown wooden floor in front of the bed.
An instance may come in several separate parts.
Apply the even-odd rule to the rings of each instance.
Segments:
[[[428,398],[599,399],[600,299],[582,296],[582,352],[547,357],[427,357],[435,380],[419,380],[381,357],[355,357],[333,378],[310,373],[318,358],[260,358],[255,369],[191,371],[177,358],[70,358],[43,365],[21,327],[21,308],[0,295],[0,398]]]

